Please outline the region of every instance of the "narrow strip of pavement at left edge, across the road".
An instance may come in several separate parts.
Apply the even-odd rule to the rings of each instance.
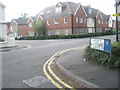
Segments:
[[[6,51],[11,51],[11,50],[17,50],[17,49],[22,49],[22,48],[26,48],[28,47],[28,45],[16,45],[16,46],[3,46],[0,47],[0,52],[6,52]]]

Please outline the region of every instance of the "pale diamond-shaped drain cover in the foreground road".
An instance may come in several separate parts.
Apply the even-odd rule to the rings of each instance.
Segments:
[[[23,83],[31,86],[31,87],[37,87],[43,83],[50,82],[47,78],[43,76],[37,76],[31,79],[23,80]]]

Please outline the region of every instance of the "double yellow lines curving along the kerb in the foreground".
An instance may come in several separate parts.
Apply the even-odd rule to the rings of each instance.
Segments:
[[[54,54],[50,59],[47,60],[47,62],[45,62],[45,64],[43,65],[43,72],[46,75],[46,77],[52,82],[53,85],[55,85],[57,88],[65,90],[61,85],[59,85],[56,81],[53,80],[53,78],[51,78],[51,76],[48,74],[50,73],[59,83],[61,83],[62,85],[64,85],[66,88],[71,88],[72,90],[74,89],[73,87],[71,87],[70,85],[68,85],[67,83],[63,82],[51,69],[50,65],[52,64],[53,60],[55,59],[55,57],[57,55],[59,55],[60,53],[57,52],[56,54]],[[47,70],[48,71],[47,71]]]

